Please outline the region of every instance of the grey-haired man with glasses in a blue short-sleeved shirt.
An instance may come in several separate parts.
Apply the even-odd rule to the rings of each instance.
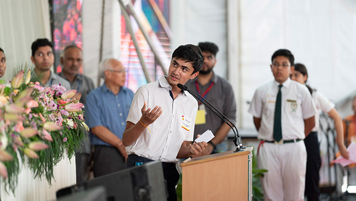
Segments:
[[[124,86],[126,73],[118,60],[103,60],[100,76],[104,78],[104,84],[89,92],[85,106],[85,120],[95,149],[94,177],[126,168],[127,153],[122,144],[122,133],[134,95]]]

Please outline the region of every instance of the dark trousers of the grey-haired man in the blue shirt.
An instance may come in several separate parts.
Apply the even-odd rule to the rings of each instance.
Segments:
[[[95,145],[94,148],[94,177],[126,169],[125,158],[115,147]]]

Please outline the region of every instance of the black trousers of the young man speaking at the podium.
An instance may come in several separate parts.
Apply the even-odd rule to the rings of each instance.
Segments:
[[[136,162],[147,163],[150,161],[153,160],[135,154],[130,154],[129,157],[127,158],[126,168],[135,167]],[[178,184],[179,173],[177,171],[176,164],[162,162],[162,168],[163,168],[164,179],[167,181],[167,190],[168,190],[167,201],[177,201],[176,185]]]

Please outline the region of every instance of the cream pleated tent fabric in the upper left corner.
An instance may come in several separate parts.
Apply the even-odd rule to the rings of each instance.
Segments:
[[[0,1],[0,47],[6,56],[5,80],[16,64],[31,62],[31,44],[37,38],[52,40],[47,0]]]

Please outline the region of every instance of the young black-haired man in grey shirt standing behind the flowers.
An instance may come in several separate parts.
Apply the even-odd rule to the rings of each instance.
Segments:
[[[69,82],[51,72],[51,67],[54,63],[53,45],[47,38],[38,38],[32,43],[31,50],[32,63],[35,64],[35,72],[40,75],[40,84],[42,86],[51,86],[52,84],[61,84],[67,90],[70,90]]]

